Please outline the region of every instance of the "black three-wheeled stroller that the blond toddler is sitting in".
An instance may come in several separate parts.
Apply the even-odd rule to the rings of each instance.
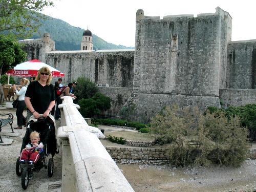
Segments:
[[[23,150],[28,143],[30,143],[30,135],[32,132],[38,132],[40,142],[43,144],[43,150],[40,153],[38,160],[30,164],[27,161],[20,162],[23,157]],[[40,117],[38,119],[31,116],[29,119],[26,134],[23,138],[22,148],[20,150],[20,156],[16,161],[16,174],[22,178],[22,187],[27,189],[29,179],[32,179],[34,172],[39,172],[42,167],[48,168],[48,176],[52,177],[53,175],[53,157],[57,152],[57,140],[55,136],[55,120],[52,115],[47,116],[46,118]],[[49,162],[47,163],[47,158]],[[25,160],[25,159],[24,159]]]

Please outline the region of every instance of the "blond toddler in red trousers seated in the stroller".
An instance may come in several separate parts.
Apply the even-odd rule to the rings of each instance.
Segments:
[[[38,132],[33,131],[29,138],[31,142],[20,153],[20,163],[25,163],[25,161],[29,161],[29,164],[36,163],[44,149],[44,144],[42,142],[39,143],[40,137]]]

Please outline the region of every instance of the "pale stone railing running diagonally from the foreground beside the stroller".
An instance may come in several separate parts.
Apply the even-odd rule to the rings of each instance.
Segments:
[[[62,191],[134,191],[70,96],[61,97]]]

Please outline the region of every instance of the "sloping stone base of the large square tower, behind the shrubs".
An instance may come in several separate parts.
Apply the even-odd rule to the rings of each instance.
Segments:
[[[163,108],[174,104],[180,107],[187,106],[190,109],[198,106],[201,111],[204,111],[207,106],[220,107],[220,100],[219,97],[214,96],[133,93],[125,103],[130,109],[127,116],[133,121],[145,123],[150,122],[150,118],[159,114]]]

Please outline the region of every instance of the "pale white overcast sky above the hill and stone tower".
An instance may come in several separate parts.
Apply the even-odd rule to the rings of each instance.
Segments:
[[[138,9],[146,16],[215,13],[216,7],[232,17],[232,41],[256,39],[255,0],[53,0],[55,7],[44,14],[74,27],[87,29],[105,41],[135,46],[135,18]],[[46,31],[47,32],[47,31]],[[50,34],[51,37],[51,34]],[[82,34],[81,34],[82,39]]]

